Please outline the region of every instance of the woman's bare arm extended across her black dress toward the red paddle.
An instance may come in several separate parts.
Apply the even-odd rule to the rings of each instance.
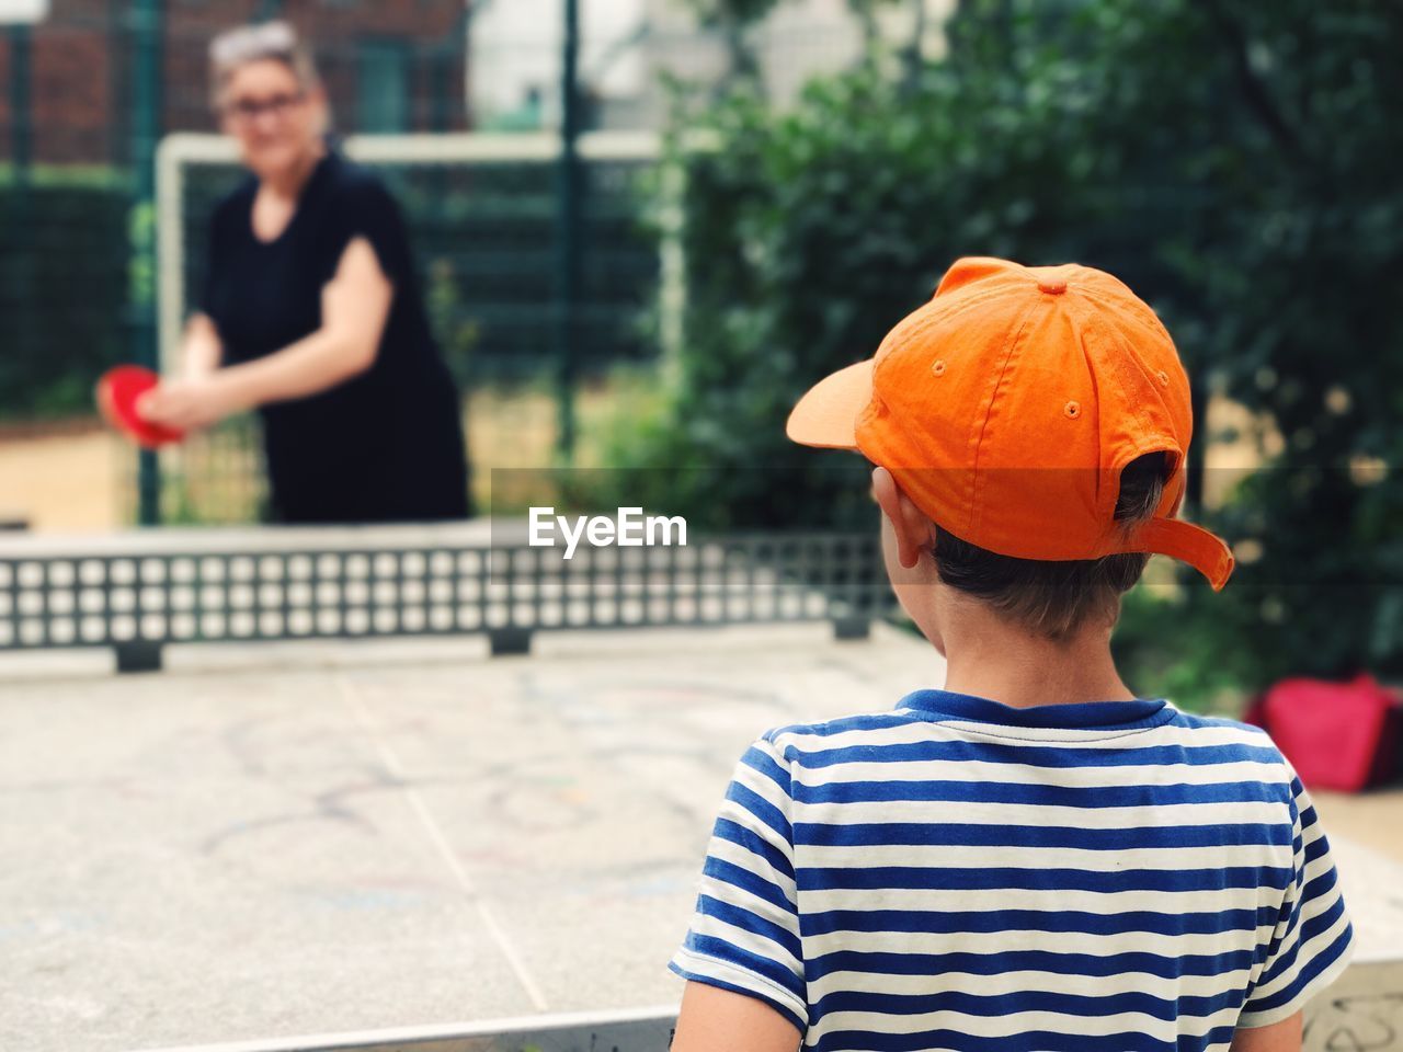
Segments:
[[[355,237],[321,290],[321,328],[267,358],[201,379],[163,383],[137,411],[156,424],[189,431],[257,405],[335,387],[375,363],[393,297],[394,286],[370,243]]]

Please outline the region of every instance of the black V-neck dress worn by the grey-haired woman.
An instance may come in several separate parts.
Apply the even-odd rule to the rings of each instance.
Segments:
[[[400,210],[384,184],[328,149],[272,241],[253,233],[250,177],[215,210],[201,309],[224,363],[279,351],[321,327],[321,289],[355,237],[375,248],[394,299],[375,365],[306,398],[260,410],[271,518],[283,523],[424,522],[469,515],[459,396],[429,332]]]

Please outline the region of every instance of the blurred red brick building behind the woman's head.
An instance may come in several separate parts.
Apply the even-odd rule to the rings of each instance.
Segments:
[[[126,163],[130,7],[126,0],[51,0],[42,22],[0,29],[0,159],[13,157],[18,132],[36,164]],[[466,126],[463,0],[164,0],[163,133],[213,130],[209,39],[265,17],[288,18],[310,42],[338,130]],[[27,83],[17,83],[24,72],[17,46],[28,52]]]

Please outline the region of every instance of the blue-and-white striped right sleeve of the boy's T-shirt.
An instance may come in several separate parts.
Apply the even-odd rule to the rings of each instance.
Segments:
[[[1294,878],[1266,961],[1237,1017],[1239,1027],[1267,1027],[1289,1018],[1338,979],[1354,957],[1354,927],[1330,843],[1295,770],[1291,794]]]

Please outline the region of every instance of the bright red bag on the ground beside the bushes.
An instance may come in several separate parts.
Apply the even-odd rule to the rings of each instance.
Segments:
[[[1284,679],[1247,711],[1308,788],[1358,793],[1397,770],[1403,692],[1360,673],[1345,683]]]

